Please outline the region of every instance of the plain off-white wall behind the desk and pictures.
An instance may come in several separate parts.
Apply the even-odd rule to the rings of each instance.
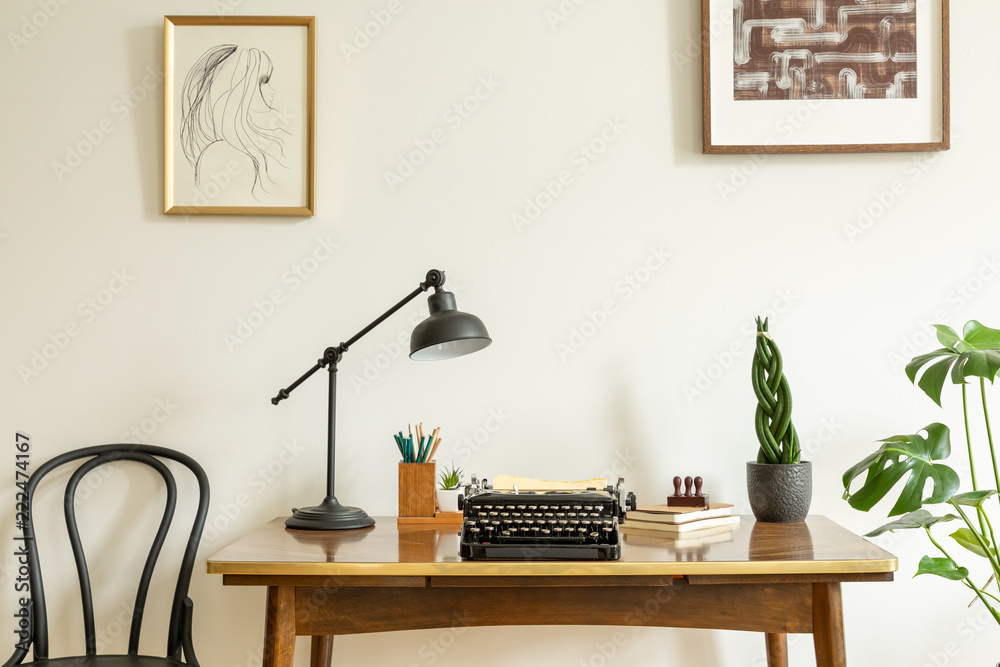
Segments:
[[[951,151],[751,161],[701,155],[696,0],[589,0],[555,27],[546,12],[557,0],[399,1],[402,11],[350,59],[340,44],[386,2],[3,4],[4,539],[13,534],[11,443],[18,430],[31,435],[36,463],[118,440],[143,424],[144,441],[195,456],[211,476],[210,517],[220,528],[202,557],[292,506],[318,501],[323,382],[304,385],[277,408],[269,399],[433,267],[448,272],[460,307],[483,318],[494,345],[442,364],[393,359],[362,386],[366,367],[384,366],[384,346],[423,310],[418,302],[350,351],[340,374],[337,483],[345,502],[394,513],[390,434],[423,421],[443,428],[439,458],[480,475],[578,478],[624,465],[640,501],[656,502],[673,475],[701,474],[715,498],[745,507],[744,461],[756,447],[746,327],[770,310],[796,424],[815,465],[813,511],[857,532],[879,525],[878,516],[841,500],[842,472],[877,438],[935,420],[959,426],[957,393],[948,394],[941,414],[909,385],[894,355],[934,347],[927,322],[1000,325],[1000,231],[989,204],[1000,100],[982,83],[997,64],[991,26],[1000,5],[953,4]],[[47,5],[58,12],[42,21],[37,15]],[[163,64],[162,17],[226,7],[318,16],[313,218],[160,213],[162,90],[157,84],[147,94],[141,85],[149,68]],[[45,25],[29,30],[32,20]],[[11,33],[22,32],[30,38],[11,42]],[[495,92],[461,127],[447,125],[446,111],[482,77],[498,83]],[[134,102],[127,114],[116,111],[123,95]],[[89,141],[104,119],[113,132],[57,175],[53,164],[66,162],[67,151]],[[574,152],[609,121],[624,129],[580,172]],[[436,127],[446,128],[447,141],[390,191],[384,172]],[[572,185],[531,226],[516,229],[512,215],[523,212],[525,198],[564,169]],[[752,172],[745,184],[722,196],[719,184],[741,169]],[[903,195],[852,237],[859,209],[896,180]],[[283,277],[320,239],[336,251],[293,289]],[[653,253],[670,257],[662,267],[654,263],[640,290],[622,289],[625,276],[647,277],[641,267]],[[81,309],[102,296],[115,272],[127,274],[125,288],[99,313]],[[226,334],[276,289],[286,300],[230,349]],[[604,324],[579,350],[560,354],[606,300],[615,311]],[[48,348],[54,358],[23,378],[19,368],[30,368],[33,355],[71,324],[79,335],[56,354]],[[740,353],[729,362],[734,344]],[[701,373],[717,379],[700,395],[685,395]],[[162,423],[149,421],[165,416],[158,402],[171,406]],[[502,412],[502,427],[458,449],[491,411]],[[290,443],[288,451],[303,451],[285,465],[280,452]],[[260,483],[255,475],[268,466],[280,474]],[[115,473],[107,486],[124,486],[124,479]],[[132,487],[130,504],[142,507],[143,488]],[[249,506],[227,516],[240,494]],[[106,556],[104,571],[114,575],[130,551],[117,540],[133,531],[112,509],[88,505],[86,521],[98,532],[92,543],[103,544],[96,548]],[[911,581],[930,551],[921,536],[883,544],[900,558],[898,581],[845,586],[850,664],[995,662],[997,630],[970,624],[976,610],[966,609],[964,589]],[[8,555],[2,590],[10,611],[12,564]],[[253,667],[263,593],[224,589],[202,569],[192,586],[202,663]],[[98,622],[110,635],[132,586],[112,578],[115,584],[101,589],[106,608]],[[58,600],[53,621],[78,626],[75,598]],[[603,664],[599,645],[615,632],[371,635],[338,639],[335,655],[337,664],[576,667]],[[627,638],[608,664],[763,661],[763,638],[751,634],[646,629],[629,630]],[[442,653],[431,644],[451,639]],[[73,645],[79,641],[77,634]],[[121,641],[116,646],[123,650]],[[146,646],[159,650],[152,640]],[[306,646],[299,644],[296,664],[306,664]],[[792,651],[798,664],[810,664],[808,638]]]

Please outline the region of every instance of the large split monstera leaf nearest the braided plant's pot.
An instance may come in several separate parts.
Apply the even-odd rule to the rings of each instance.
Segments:
[[[851,507],[867,512],[904,478],[903,489],[889,516],[913,512],[924,504],[943,503],[955,495],[958,475],[943,463],[935,463],[951,454],[948,427],[934,423],[922,432],[927,437],[914,433],[880,440],[883,444],[877,452],[844,473],[844,499]],[[864,472],[867,472],[864,484],[851,493],[851,483]],[[928,480],[933,483],[933,491],[923,498]]]

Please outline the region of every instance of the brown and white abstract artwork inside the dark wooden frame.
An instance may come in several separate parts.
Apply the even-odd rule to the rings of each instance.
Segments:
[[[734,0],[733,96],[917,97],[916,0]]]

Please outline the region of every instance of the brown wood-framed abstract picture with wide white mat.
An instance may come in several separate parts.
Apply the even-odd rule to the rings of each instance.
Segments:
[[[949,0],[806,6],[702,0],[703,153],[951,147]]]

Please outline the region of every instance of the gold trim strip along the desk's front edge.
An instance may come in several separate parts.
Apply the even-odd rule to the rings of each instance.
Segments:
[[[762,567],[763,566],[763,567]],[[580,576],[580,575],[696,575],[733,574],[849,574],[895,572],[895,558],[865,561],[732,561],[677,563],[622,563],[621,561],[455,561],[450,563],[277,563],[206,561],[208,574],[285,576]]]

